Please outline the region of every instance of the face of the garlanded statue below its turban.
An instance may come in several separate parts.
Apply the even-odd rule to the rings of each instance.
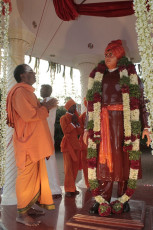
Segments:
[[[105,64],[108,69],[115,69],[117,67],[117,57],[110,51],[105,53]]]

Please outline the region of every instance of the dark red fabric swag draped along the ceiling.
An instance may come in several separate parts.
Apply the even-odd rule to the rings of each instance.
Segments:
[[[79,15],[122,17],[134,14],[133,1],[75,4],[74,0],[53,0],[56,14],[63,21],[75,20]]]

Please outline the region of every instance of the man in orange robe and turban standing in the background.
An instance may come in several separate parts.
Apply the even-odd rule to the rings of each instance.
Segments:
[[[79,124],[79,115],[76,103],[70,99],[66,104],[66,114],[60,118],[60,125],[64,134],[61,142],[61,152],[64,159],[64,189],[67,197],[79,194],[76,190],[75,180],[79,170],[80,143],[78,135],[82,129]]]

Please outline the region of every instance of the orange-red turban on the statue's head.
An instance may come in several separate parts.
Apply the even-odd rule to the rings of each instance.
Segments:
[[[105,49],[105,54],[108,51],[111,51],[117,57],[117,59],[120,59],[125,55],[125,50],[122,46],[121,40],[111,41]]]

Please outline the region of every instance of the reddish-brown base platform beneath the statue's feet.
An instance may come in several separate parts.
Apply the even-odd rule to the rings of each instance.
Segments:
[[[145,202],[131,200],[129,204],[130,212],[128,213],[112,214],[108,217],[101,217],[98,214],[89,214],[89,209],[93,205],[93,200],[91,199],[66,224],[74,229],[143,229]]]

